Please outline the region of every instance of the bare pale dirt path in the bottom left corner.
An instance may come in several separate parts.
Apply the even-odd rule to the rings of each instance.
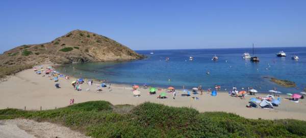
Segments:
[[[0,120],[1,138],[88,137],[67,127],[28,119]]]

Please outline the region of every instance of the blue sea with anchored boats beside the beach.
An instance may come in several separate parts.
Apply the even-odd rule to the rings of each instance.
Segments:
[[[277,57],[284,51],[287,57]],[[243,59],[245,52],[252,48],[231,49],[184,49],[184,50],[141,50],[136,51],[148,56],[143,60],[126,62],[94,62],[67,64],[57,67],[61,73],[75,77],[107,79],[112,83],[139,84],[153,86],[174,86],[179,89],[202,85],[204,89],[221,85],[221,90],[253,87],[260,92],[276,87],[283,93],[300,92],[306,87],[306,47],[291,48],[255,48],[260,62]],[[154,54],[150,54],[154,52]],[[292,55],[299,60],[292,60]],[[219,60],[211,60],[214,55]],[[192,61],[188,60],[192,56]],[[165,58],[169,57],[169,61]],[[207,75],[207,72],[210,72]],[[284,88],[264,77],[275,77],[294,81],[296,88]]]

